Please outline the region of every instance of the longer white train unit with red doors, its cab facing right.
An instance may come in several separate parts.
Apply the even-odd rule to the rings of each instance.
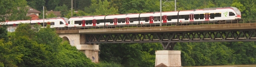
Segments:
[[[235,7],[204,8],[195,10],[162,12],[162,25],[175,23],[218,23],[235,22],[241,19],[241,12]],[[136,13],[107,16],[71,17],[68,27],[83,26],[135,26],[159,25],[160,13]]]

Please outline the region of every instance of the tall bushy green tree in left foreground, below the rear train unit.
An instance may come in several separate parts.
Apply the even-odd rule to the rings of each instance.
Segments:
[[[35,31],[31,29],[30,24],[19,24],[14,34],[11,39],[15,48],[13,50],[23,54],[22,61],[17,64],[18,67],[48,67],[50,65],[47,55],[49,51],[45,50],[47,46],[32,40]]]

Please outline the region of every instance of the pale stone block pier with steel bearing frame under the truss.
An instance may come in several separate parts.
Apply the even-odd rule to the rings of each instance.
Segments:
[[[173,50],[176,42],[162,42],[164,50],[155,51],[155,67],[181,67],[181,51]]]

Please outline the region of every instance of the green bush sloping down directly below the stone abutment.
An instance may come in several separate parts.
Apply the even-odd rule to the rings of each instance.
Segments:
[[[55,67],[96,67],[84,53],[68,42],[63,42],[59,49],[60,52],[56,56],[56,61],[53,62],[56,64]]]

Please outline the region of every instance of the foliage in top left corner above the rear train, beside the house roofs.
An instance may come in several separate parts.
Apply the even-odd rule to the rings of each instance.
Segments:
[[[18,9],[18,7],[20,8]],[[26,0],[1,0],[0,10],[0,22],[30,19],[30,17],[26,16]]]

